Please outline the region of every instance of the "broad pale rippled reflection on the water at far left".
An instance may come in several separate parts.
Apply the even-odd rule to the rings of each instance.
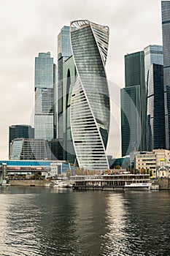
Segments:
[[[30,195],[10,195],[7,223],[4,225],[2,255],[38,255],[39,241],[36,239],[36,225],[41,212],[36,208]],[[33,221],[34,220],[34,221]]]

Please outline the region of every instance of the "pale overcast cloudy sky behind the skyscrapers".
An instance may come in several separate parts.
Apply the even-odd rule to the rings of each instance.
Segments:
[[[120,89],[124,56],[161,45],[161,0],[0,0],[0,159],[8,159],[9,125],[34,126],[34,59],[56,63],[57,35],[70,21],[109,26],[107,78],[111,125],[107,154],[120,157]]]

